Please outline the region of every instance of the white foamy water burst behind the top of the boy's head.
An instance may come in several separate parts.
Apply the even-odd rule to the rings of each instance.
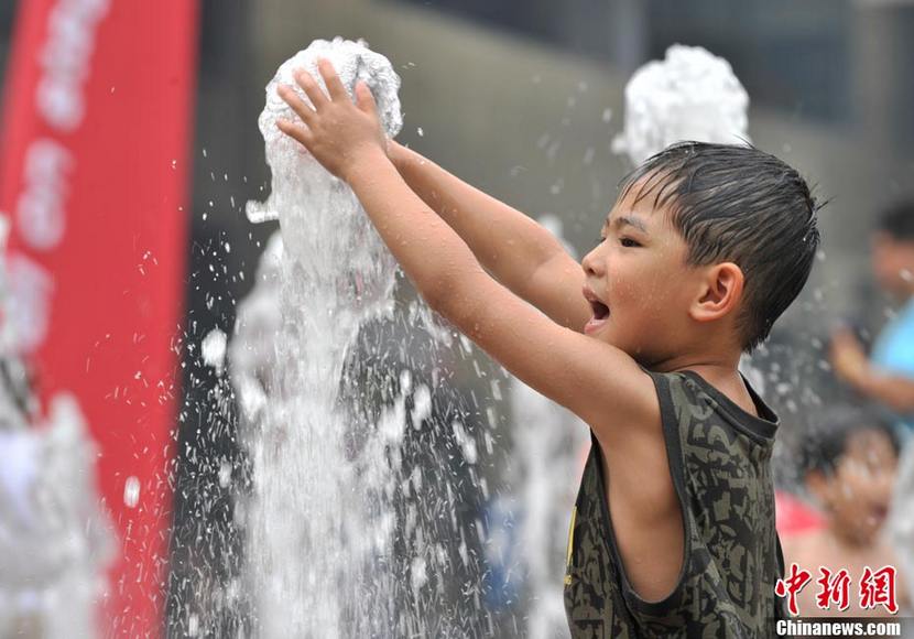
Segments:
[[[612,143],[633,165],[674,142],[748,140],[749,95],[722,57],[674,44],[625,85],[625,123]]]

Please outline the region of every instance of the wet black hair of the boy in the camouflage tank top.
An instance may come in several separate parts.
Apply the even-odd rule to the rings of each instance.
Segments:
[[[764,342],[806,283],[818,249],[824,204],[806,181],[749,144],[679,142],[623,178],[621,197],[632,187],[636,201],[653,196],[655,208],[670,207],[689,266],[732,261],[742,270],[742,347]]]

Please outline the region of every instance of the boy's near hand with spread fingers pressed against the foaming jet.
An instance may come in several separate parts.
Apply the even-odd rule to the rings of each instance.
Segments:
[[[278,120],[276,127],[301,142],[330,173],[348,182],[352,167],[370,158],[387,158],[387,136],[378,118],[374,98],[368,86],[356,84],[356,102],[339,80],[333,65],[317,62],[329,96],[305,71],[295,73],[295,82],[314,105],[309,107],[295,91],[280,85],[280,97],[294,110],[302,123]]]

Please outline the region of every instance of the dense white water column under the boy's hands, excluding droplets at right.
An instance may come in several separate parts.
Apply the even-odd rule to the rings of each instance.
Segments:
[[[400,79],[387,58],[361,43],[316,41],[266,86],[259,124],[272,191],[248,213],[280,220],[283,246],[272,264],[279,277],[270,285],[279,292],[281,322],[269,326],[260,318],[268,331],[278,329],[272,356],[265,366],[248,360],[249,371],[260,366],[273,377],[240,377],[248,385],[242,412],[257,425],[249,434],[254,495],[244,518],[250,583],[258,633],[268,638],[368,636],[383,631],[388,613],[378,602],[384,575],[369,577],[368,571],[389,541],[382,529],[372,530],[382,510],[377,490],[389,473],[377,454],[367,462],[370,472],[356,475],[345,445],[352,425],[338,399],[359,326],[392,308],[395,262],[351,189],[275,127],[276,119],[295,117],[278,85],[295,86],[297,68],[319,78],[318,57],[334,64],[350,95],[357,80],[368,84],[389,136],[402,126]],[[372,618],[362,606],[380,609]]]

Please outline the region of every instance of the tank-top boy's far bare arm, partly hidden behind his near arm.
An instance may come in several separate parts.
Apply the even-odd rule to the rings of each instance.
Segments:
[[[591,314],[580,296],[584,274],[555,236],[402,144],[390,141],[388,153],[410,188],[499,282],[562,326],[583,328]]]

